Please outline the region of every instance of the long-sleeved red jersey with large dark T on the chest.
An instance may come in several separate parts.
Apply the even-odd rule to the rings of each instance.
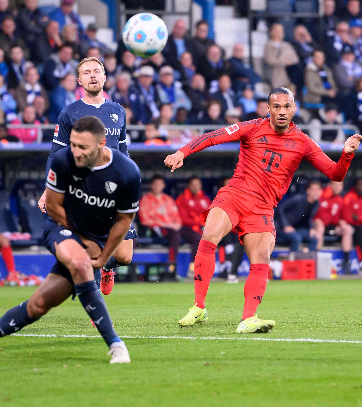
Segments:
[[[342,181],[354,156],[354,153],[347,154],[343,150],[336,163],[293,122],[285,133],[277,133],[270,126],[270,118],[235,123],[211,131],[196,137],[180,151],[187,157],[229,141],[240,142],[240,153],[228,185],[273,208],[286,193],[302,160],[309,161],[333,181]]]

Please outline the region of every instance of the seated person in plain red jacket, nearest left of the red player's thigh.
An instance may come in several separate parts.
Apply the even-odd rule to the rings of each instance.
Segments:
[[[190,243],[191,259],[194,259],[202,236],[203,226],[200,215],[202,211],[207,209],[211,204],[211,200],[202,190],[202,183],[199,177],[189,178],[187,188],[176,199],[176,204],[182,221],[180,233],[181,236]],[[191,261],[189,273],[192,274],[192,278],[194,265],[195,263]]]

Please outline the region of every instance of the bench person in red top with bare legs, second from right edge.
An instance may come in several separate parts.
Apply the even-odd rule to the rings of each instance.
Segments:
[[[353,243],[353,228],[344,219],[342,213],[344,202],[341,196],[343,182],[331,181],[327,188],[323,190],[320,198],[320,206],[314,217],[314,229],[318,236],[317,249],[320,250],[324,244],[324,236],[342,236],[341,244],[343,251],[342,269],[344,274],[350,274],[350,254]]]

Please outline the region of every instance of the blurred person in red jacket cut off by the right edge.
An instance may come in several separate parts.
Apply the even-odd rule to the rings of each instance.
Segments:
[[[358,178],[354,188],[344,197],[343,219],[354,229],[353,240],[356,246],[360,271],[362,271],[362,178]]]

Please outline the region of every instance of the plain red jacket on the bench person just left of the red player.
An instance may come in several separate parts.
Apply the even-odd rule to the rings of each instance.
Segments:
[[[177,199],[176,204],[180,212],[182,225],[187,226],[195,232],[201,232],[201,212],[211,205],[211,200],[199,191],[196,195],[192,195],[189,189],[185,189]]]

